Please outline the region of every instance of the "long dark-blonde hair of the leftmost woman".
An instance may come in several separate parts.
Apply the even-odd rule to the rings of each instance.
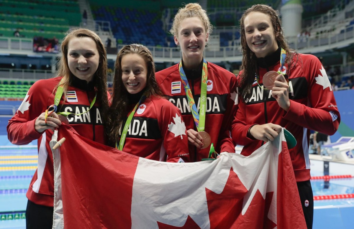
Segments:
[[[57,90],[59,86],[62,86],[64,89],[64,96],[66,96],[66,92],[68,87],[70,86],[71,79],[76,77],[69,69],[68,64],[68,45],[69,41],[75,37],[89,37],[96,43],[96,48],[99,54],[99,63],[98,68],[93,75],[93,83],[95,85],[95,90],[97,92],[96,101],[101,106],[101,117],[103,119],[103,123],[107,121],[107,111],[108,111],[108,97],[107,97],[107,53],[104,48],[104,45],[99,36],[89,30],[89,29],[70,29],[67,32],[62,44],[61,44],[61,52],[62,56],[58,61],[58,71],[56,73],[56,77],[63,77],[63,81],[58,84],[58,86],[54,89]],[[53,92],[54,92],[53,91]],[[65,98],[64,98],[65,99]]]

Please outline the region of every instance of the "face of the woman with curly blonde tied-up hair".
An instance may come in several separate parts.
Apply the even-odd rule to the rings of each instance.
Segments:
[[[176,45],[181,46],[185,67],[192,68],[200,64],[208,38],[209,34],[199,17],[185,18],[181,21],[174,39]]]

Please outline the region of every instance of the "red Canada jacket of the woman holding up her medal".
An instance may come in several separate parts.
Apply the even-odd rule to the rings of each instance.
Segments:
[[[338,129],[340,116],[330,81],[319,59],[314,55],[299,54],[293,63],[295,68],[289,75],[289,111],[278,105],[269,90],[261,89],[254,82],[251,98],[246,103],[240,98],[232,124],[232,139],[244,146],[241,154],[248,156],[264,143],[247,137],[251,125],[274,123],[289,130],[297,140],[297,145],[289,152],[296,181],[300,182],[310,180],[309,131],[333,135]],[[280,70],[280,61],[268,70]],[[258,68],[260,84],[268,70]]]

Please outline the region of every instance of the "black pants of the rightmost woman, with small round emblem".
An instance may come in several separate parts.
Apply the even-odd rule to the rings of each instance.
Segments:
[[[313,193],[310,181],[297,182],[302,210],[304,212],[307,229],[312,229],[313,223]]]

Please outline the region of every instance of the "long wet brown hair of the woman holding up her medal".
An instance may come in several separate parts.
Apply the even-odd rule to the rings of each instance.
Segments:
[[[285,65],[288,66],[287,74],[290,75],[290,71],[292,67],[295,65],[292,63],[293,58],[298,53],[291,49],[285,39],[284,31],[281,28],[281,20],[279,18],[279,11],[274,10],[272,7],[268,5],[253,5],[248,8],[240,19],[241,26],[241,48],[242,48],[242,65],[240,67],[241,75],[239,81],[239,93],[242,98],[245,100],[251,97],[251,89],[252,84],[255,80],[255,71],[257,69],[257,57],[254,52],[251,51],[250,47],[247,45],[246,41],[246,33],[245,33],[245,23],[244,20],[247,15],[251,12],[261,12],[270,17],[270,21],[272,22],[275,41],[278,43],[278,46],[282,47],[287,55],[285,58]]]

